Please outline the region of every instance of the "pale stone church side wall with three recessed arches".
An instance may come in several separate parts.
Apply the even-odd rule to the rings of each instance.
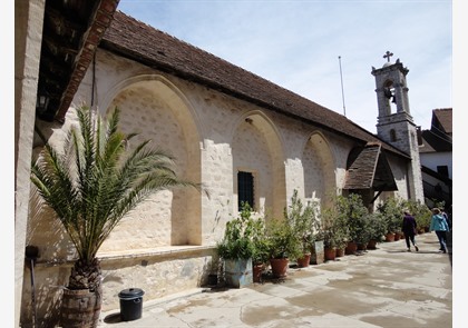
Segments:
[[[212,248],[237,211],[238,170],[254,173],[256,209],[275,216],[282,215],[294,189],[305,199],[323,200],[344,183],[354,145],[343,137],[103,50],[97,52],[96,83],[91,73],[74,107],[91,105],[95,90],[94,107],[101,113],[120,108],[124,131],[140,132],[138,141],[152,139],[169,151],[181,177],[203,182],[211,195],[162,191],[121,221],[99,251],[104,310],[118,308],[118,292],[129,287],[142,288],[149,300],[201,286]],[[72,121],[70,111],[64,128]],[[60,133],[52,130],[51,140]],[[404,172],[393,173],[404,189]],[[50,218],[39,215],[33,220],[29,239],[42,254],[37,288],[56,298],[74,254]],[[45,308],[47,297],[41,301]]]

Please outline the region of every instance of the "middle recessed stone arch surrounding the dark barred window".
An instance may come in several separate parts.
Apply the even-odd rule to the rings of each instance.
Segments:
[[[244,113],[231,136],[233,195],[237,210],[237,172],[254,176],[254,209],[281,217],[285,206],[284,151],[281,135],[262,111]]]

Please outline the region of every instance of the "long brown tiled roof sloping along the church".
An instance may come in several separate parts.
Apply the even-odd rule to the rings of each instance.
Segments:
[[[121,11],[114,14],[114,21],[106,30],[99,47],[269,110],[344,135],[361,141],[362,145],[381,142],[384,149],[408,158],[408,155],[378,139],[344,116],[145,24]]]

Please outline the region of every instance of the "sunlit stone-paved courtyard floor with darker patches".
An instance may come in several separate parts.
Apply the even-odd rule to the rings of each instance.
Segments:
[[[435,233],[383,242],[360,256],[290,268],[282,281],[246,288],[199,288],[143,302],[142,318],[101,314],[99,327],[452,327],[452,261]],[[468,326],[467,326],[468,327]]]

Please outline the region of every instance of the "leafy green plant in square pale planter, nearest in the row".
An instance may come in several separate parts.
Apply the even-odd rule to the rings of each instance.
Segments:
[[[243,202],[238,217],[226,222],[224,237],[216,243],[216,252],[224,260],[224,279],[231,287],[253,282],[252,258],[261,256],[254,243],[255,221],[252,208]]]

